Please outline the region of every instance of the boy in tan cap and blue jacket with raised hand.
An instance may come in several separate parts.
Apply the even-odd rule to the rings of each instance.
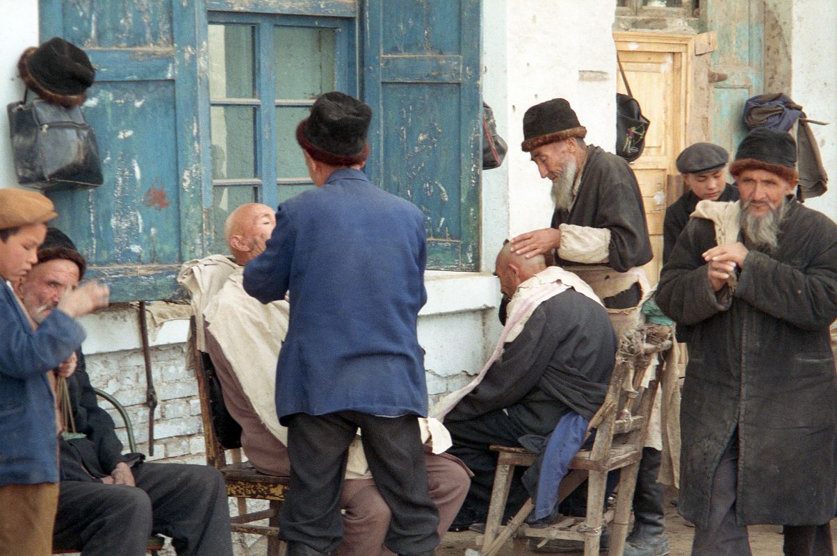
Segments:
[[[106,286],[62,297],[37,330],[13,286],[38,262],[45,224],[58,214],[44,195],[0,189],[0,547],[6,554],[52,553],[58,502],[58,440],[48,373],[68,360],[85,331],[74,317],[107,306]]]

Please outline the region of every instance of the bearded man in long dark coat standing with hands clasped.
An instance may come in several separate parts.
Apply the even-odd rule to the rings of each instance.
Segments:
[[[796,144],[756,128],[730,172],[737,234],[693,218],[656,300],[693,326],[680,426],[680,513],[692,554],[750,554],[747,525],[784,526],[784,553],[833,553],[837,224],[794,198]]]

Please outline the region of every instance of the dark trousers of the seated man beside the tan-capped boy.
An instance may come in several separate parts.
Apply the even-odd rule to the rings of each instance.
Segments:
[[[223,477],[213,467],[143,463],[136,487],[62,481],[54,547],[82,556],[142,556],[151,533],[181,556],[232,556]]]

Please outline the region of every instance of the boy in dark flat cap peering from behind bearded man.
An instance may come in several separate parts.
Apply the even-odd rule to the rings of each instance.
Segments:
[[[689,215],[699,201],[737,201],[738,188],[727,183],[729,153],[714,143],[695,143],[677,157],[677,171],[688,188],[665,209],[663,221],[663,264],[675,248],[677,236],[686,228]]]

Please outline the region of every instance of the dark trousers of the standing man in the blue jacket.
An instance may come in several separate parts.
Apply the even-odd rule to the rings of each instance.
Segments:
[[[375,486],[392,512],[384,545],[394,553],[412,555],[439,544],[439,514],[428,494],[415,415],[390,418],[339,411],[298,413],[287,420],[290,489],[279,519],[283,539],[321,553],[340,543],[347,450],[360,428]]]

